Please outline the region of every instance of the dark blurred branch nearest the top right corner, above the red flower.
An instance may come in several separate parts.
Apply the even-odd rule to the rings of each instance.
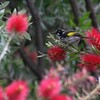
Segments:
[[[93,8],[92,0],[85,0],[85,4],[86,4],[87,11],[90,11],[90,18],[92,20],[92,25],[95,28],[98,28],[98,23],[97,23],[96,14]]]

